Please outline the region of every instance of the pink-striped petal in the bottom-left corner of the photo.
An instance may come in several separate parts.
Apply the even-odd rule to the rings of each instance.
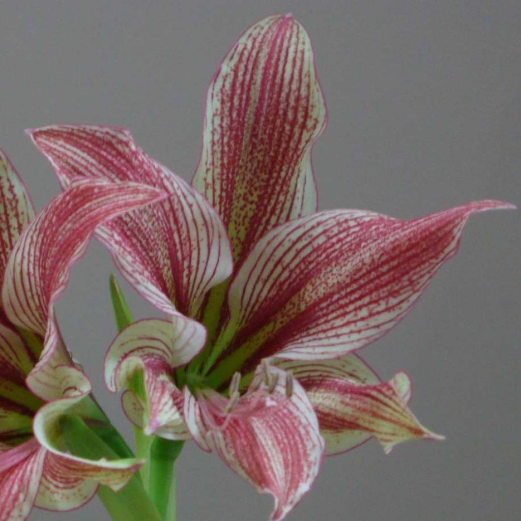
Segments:
[[[31,512],[40,486],[45,452],[31,439],[0,456],[0,521],[23,521]]]

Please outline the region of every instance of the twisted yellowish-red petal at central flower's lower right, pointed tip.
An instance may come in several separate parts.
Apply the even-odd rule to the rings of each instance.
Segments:
[[[411,381],[397,373],[381,382],[356,355],[318,362],[279,361],[305,389],[326,440],[326,455],[355,448],[375,437],[384,451],[407,440],[436,435],[419,423],[407,407]]]

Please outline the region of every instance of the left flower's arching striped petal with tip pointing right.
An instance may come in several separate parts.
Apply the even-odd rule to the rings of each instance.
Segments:
[[[97,226],[160,197],[162,192],[137,183],[77,180],[20,235],[7,263],[2,301],[13,324],[45,339],[40,361],[27,380],[41,398],[60,396],[52,373],[70,364],[53,305],[65,290],[71,265],[83,255]]]

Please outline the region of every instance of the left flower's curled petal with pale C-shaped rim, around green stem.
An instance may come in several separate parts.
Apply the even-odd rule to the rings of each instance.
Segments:
[[[85,494],[89,493],[89,487],[82,487],[80,479],[95,481],[117,491],[126,485],[133,473],[142,465],[142,462],[135,458],[114,461],[107,461],[103,458],[88,460],[68,453],[63,445],[59,420],[63,415],[74,414],[75,405],[87,395],[89,390],[85,389],[83,394],[77,394],[71,398],[47,403],[36,413],[33,423],[34,436],[47,451],[53,454],[49,465],[52,466],[54,474],[49,476],[46,486],[52,487],[53,482],[58,486],[58,482],[63,482],[66,477],[69,477],[71,488],[83,493],[82,498],[78,499],[81,502],[87,499]],[[42,496],[41,501],[51,500]],[[79,504],[82,504],[81,502]]]

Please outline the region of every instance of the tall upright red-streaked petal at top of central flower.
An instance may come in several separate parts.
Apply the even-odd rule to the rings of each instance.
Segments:
[[[326,119],[300,23],[270,16],[248,29],[208,87],[192,183],[228,227],[236,262],[271,228],[316,211],[311,149]]]

